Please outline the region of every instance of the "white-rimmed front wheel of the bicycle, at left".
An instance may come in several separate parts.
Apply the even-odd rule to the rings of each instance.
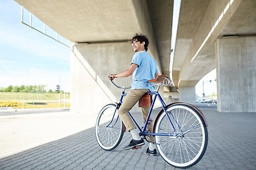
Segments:
[[[116,105],[108,104],[102,108],[96,120],[97,143],[107,151],[116,148],[124,135],[122,120],[116,112]]]

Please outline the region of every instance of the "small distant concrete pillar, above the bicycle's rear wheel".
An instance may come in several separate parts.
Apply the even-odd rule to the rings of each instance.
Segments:
[[[178,88],[178,101],[196,103],[196,87],[181,86]]]

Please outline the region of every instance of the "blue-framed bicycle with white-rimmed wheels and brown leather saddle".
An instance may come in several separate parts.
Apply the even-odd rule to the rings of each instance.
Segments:
[[[139,135],[145,140],[147,135],[154,135],[159,154],[172,166],[183,169],[197,164],[205,154],[208,145],[208,123],[205,116],[198,108],[189,103],[175,102],[169,105],[164,103],[159,94],[159,88],[160,86],[171,86],[172,82],[169,77],[161,75],[149,82],[155,84],[156,91],[149,92],[154,97],[144,128],[139,128],[129,113],[134,124],[140,130]],[[114,84],[113,81],[112,84]],[[117,86],[117,84],[114,86],[122,89],[119,103],[110,103],[104,106],[97,116],[95,126],[97,143],[107,151],[115,149],[124,135],[125,126],[119,118],[117,110],[122,105],[122,99],[127,95],[124,91],[131,88]],[[162,110],[156,116],[153,132],[148,133],[146,125],[149,122],[156,98],[159,98]]]

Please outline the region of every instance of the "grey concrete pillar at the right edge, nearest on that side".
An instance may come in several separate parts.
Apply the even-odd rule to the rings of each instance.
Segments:
[[[256,37],[215,42],[218,111],[256,111]]]

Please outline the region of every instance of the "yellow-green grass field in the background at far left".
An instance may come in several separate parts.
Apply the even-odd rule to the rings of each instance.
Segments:
[[[70,107],[70,94],[65,95],[65,107]],[[0,92],[0,107],[56,108],[59,94]],[[60,107],[64,107],[64,94],[60,94]]]

